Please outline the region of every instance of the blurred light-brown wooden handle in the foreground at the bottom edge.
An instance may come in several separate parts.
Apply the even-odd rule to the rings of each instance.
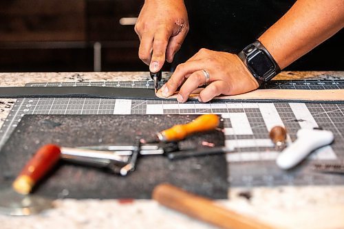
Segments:
[[[160,184],[153,190],[153,199],[160,204],[183,212],[220,228],[257,229],[272,228],[256,219],[239,215],[233,210],[218,206],[211,199],[206,199],[171,184]]]

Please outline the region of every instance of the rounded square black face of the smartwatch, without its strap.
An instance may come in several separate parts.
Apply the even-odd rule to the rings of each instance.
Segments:
[[[261,78],[268,72],[275,69],[274,63],[270,61],[268,56],[262,50],[257,50],[247,59],[248,66]]]

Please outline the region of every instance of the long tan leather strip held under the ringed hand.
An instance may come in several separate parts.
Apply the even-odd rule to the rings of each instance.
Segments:
[[[197,98],[202,89],[196,89],[189,98]],[[169,98],[177,99],[178,92]],[[156,94],[164,98],[159,90]],[[303,90],[303,89],[257,89],[235,96],[217,96],[215,100],[297,100],[297,101],[344,101],[344,89]]]

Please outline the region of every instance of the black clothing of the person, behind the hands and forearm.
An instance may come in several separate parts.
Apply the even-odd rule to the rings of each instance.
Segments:
[[[237,53],[283,16],[296,0],[184,0],[190,31],[179,62],[200,47]],[[297,23],[297,22],[295,22]],[[286,31],[288,32],[288,31]],[[344,31],[315,47],[285,70],[344,70]]]

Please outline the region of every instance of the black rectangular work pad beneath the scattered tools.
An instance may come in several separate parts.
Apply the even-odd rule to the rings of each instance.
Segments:
[[[44,144],[91,146],[132,144],[136,136],[153,137],[157,131],[190,122],[186,115],[97,115],[97,116],[23,116],[0,152],[0,187],[9,186],[32,154]],[[183,147],[200,145],[203,140],[224,145],[222,131],[192,135]],[[227,163],[224,155],[190,157],[169,161],[162,155],[138,158],[136,171],[127,177],[100,168],[67,162],[59,164],[34,188],[34,193],[58,197],[148,199],[153,187],[169,182],[193,193],[226,199]]]

